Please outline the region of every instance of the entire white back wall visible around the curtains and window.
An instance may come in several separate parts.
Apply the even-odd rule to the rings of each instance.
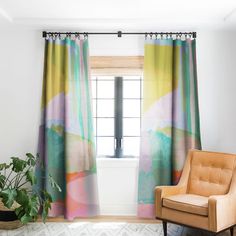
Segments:
[[[199,103],[204,149],[236,153],[236,32],[199,32]],[[44,42],[40,31],[0,37],[0,162],[36,152]],[[143,38],[90,37],[91,55],[142,55]],[[99,160],[102,214],[135,215],[137,160]]]

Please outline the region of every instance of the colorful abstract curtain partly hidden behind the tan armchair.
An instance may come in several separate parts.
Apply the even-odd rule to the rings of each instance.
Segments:
[[[195,39],[146,40],[138,215],[154,216],[154,188],[176,184],[201,148]]]

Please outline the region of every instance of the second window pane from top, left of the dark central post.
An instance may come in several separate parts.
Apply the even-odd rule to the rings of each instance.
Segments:
[[[114,117],[114,100],[97,101],[98,117]]]

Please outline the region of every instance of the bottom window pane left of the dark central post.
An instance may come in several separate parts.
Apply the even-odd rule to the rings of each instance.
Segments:
[[[98,137],[97,138],[97,155],[113,156],[114,155],[114,138]]]

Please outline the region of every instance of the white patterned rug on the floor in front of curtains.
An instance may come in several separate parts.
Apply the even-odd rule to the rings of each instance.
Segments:
[[[181,227],[168,227],[169,235],[180,235]],[[172,231],[172,232],[169,232]],[[174,232],[175,231],[175,232]],[[179,234],[180,233],[180,234]],[[0,230],[0,236],[162,236],[161,224],[109,223],[30,223],[16,230]]]

